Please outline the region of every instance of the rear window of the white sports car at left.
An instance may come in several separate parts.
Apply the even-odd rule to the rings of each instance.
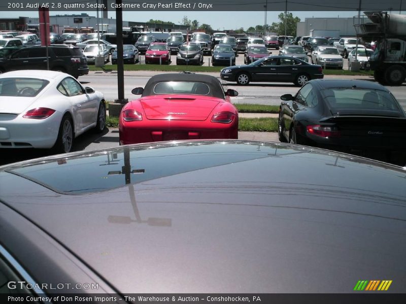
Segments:
[[[35,78],[0,79],[0,96],[33,97],[38,95],[49,81]]]

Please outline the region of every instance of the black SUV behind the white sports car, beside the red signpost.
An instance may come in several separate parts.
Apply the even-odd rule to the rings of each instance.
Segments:
[[[51,45],[48,47],[49,69],[78,78],[89,73],[86,56],[78,47]],[[46,47],[21,48],[10,56],[0,58],[0,71],[47,69]]]

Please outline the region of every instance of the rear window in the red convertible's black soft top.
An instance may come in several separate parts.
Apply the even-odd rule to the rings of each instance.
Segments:
[[[154,87],[154,93],[209,95],[210,88],[205,83],[170,81],[157,83]]]

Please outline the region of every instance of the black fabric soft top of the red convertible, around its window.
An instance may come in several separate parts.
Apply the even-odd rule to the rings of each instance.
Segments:
[[[224,99],[224,90],[221,86],[219,80],[211,75],[204,75],[204,74],[192,74],[192,73],[169,73],[169,74],[158,74],[150,78],[144,88],[144,92],[141,95],[144,96],[151,96],[156,95],[154,93],[154,87],[156,84],[161,82],[198,82],[207,84],[210,88],[210,93],[208,96],[213,96],[217,98]]]

